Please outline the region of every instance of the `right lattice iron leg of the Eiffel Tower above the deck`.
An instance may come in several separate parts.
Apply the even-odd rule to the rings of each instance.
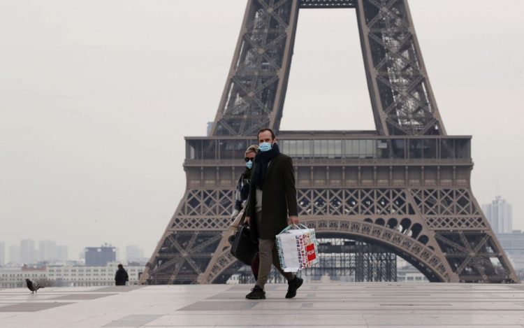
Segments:
[[[406,0],[358,0],[358,29],[377,131],[446,134]]]

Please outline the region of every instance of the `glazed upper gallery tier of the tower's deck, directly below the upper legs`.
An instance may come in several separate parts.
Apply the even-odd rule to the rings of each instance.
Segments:
[[[377,136],[374,134],[282,134],[281,152],[298,164],[472,165],[471,136]],[[186,137],[184,166],[235,165],[245,157],[249,137]]]

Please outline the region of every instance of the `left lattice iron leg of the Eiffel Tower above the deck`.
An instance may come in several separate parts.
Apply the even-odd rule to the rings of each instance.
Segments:
[[[298,0],[248,1],[212,135],[279,126],[297,18]]]

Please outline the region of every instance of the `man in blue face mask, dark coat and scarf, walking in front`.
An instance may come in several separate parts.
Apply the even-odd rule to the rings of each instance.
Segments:
[[[261,129],[257,137],[259,152],[249,187],[246,222],[251,226],[252,237],[259,241],[260,266],[255,287],[246,298],[265,299],[264,285],[272,264],[288,280],[286,299],[291,299],[296,296],[303,279],[295,273],[284,272],[280,267],[275,236],[289,222],[298,223],[293,162],[291,157],[279,151],[271,129]]]

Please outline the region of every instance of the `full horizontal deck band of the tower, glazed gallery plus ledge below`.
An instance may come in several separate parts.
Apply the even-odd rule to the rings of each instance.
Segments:
[[[280,134],[298,188],[470,187],[471,136]],[[187,137],[189,188],[233,188],[245,170],[249,137]]]

